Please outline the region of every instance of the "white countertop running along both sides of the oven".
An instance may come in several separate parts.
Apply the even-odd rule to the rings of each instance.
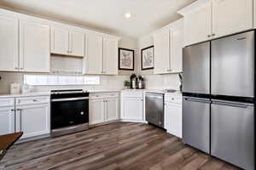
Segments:
[[[87,90],[91,94],[96,93],[112,93],[112,92],[150,92],[159,94],[181,94],[180,91],[173,93],[166,93],[164,89],[99,89],[99,90]],[[28,94],[0,94],[0,98],[19,98],[30,96],[45,96],[50,95],[49,91],[46,92],[32,92]]]

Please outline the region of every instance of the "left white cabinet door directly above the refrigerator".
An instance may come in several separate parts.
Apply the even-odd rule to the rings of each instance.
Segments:
[[[185,45],[196,42],[204,42],[212,35],[212,14],[211,3],[197,10],[193,14],[186,14],[185,24]]]

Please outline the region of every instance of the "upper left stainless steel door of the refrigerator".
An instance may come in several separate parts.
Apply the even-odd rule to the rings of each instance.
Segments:
[[[210,42],[183,48],[183,92],[210,93]]]

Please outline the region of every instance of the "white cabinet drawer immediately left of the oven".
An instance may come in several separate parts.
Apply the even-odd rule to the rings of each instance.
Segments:
[[[36,96],[16,99],[16,105],[34,105],[45,103],[49,103],[49,96]]]

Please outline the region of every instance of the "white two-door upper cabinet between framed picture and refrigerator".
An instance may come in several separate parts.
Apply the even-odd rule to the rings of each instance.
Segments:
[[[182,72],[183,20],[154,33],[154,74]]]

